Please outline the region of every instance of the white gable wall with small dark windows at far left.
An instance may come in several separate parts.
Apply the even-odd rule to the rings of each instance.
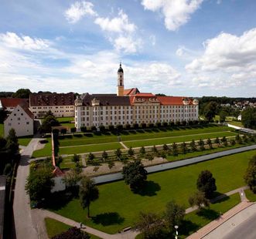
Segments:
[[[21,106],[16,106],[4,122],[5,137],[14,129],[16,136],[33,135],[34,120]]]

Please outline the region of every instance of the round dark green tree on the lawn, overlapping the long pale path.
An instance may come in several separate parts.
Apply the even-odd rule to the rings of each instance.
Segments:
[[[131,190],[136,191],[144,185],[148,172],[140,160],[135,160],[123,167],[122,174],[125,183],[130,186]]]

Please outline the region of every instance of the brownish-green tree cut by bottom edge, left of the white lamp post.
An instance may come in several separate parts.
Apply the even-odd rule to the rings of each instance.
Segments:
[[[162,238],[163,220],[159,215],[154,213],[140,212],[138,221],[135,222],[135,228],[141,231],[143,238]]]

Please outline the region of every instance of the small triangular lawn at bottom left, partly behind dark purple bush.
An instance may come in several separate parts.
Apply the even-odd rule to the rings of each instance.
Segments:
[[[49,238],[54,237],[58,234],[61,234],[64,231],[67,231],[68,229],[70,229],[70,227],[71,227],[70,225],[63,224],[59,220],[54,220],[49,217],[45,218],[45,223],[46,223],[46,231],[47,231]],[[100,237],[96,237],[96,236],[90,234],[90,239],[98,239],[98,238],[100,238]]]

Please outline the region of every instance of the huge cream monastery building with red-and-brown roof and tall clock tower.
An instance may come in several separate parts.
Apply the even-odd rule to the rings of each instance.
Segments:
[[[155,96],[137,88],[124,89],[118,69],[117,95],[84,94],[75,100],[75,126],[117,126],[198,120],[198,101],[185,96]]]

